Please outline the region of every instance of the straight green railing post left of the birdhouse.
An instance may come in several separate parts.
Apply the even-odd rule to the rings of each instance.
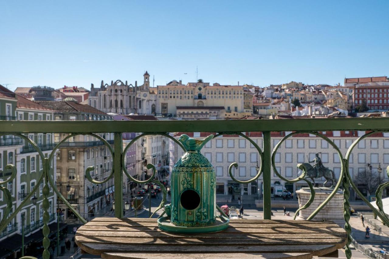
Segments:
[[[123,151],[123,137],[121,133],[114,133],[114,186],[115,186],[115,217],[123,218],[123,172],[121,157]]]

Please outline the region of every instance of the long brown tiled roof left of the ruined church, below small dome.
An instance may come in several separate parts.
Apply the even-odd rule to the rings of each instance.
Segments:
[[[86,113],[107,115],[105,112],[102,112],[89,105],[75,103],[73,101],[34,101],[34,102],[58,112],[86,112]]]

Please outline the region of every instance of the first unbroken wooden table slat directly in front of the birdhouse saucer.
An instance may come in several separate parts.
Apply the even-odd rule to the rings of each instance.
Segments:
[[[213,238],[213,239],[253,239],[253,238],[292,238],[292,239],[308,239],[308,238],[345,238],[346,233],[268,233],[268,231],[264,231],[264,233],[250,233],[250,234],[234,234],[234,235],[226,235],[223,233],[210,233],[210,234],[193,234],[193,235],[185,235],[185,234],[174,234],[167,232],[135,232],[135,231],[82,231],[77,230],[77,235],[80,236],[98,236],[98,237],[125,237],[125,238]]]

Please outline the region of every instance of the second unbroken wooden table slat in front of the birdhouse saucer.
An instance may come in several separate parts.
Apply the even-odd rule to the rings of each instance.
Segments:
[[[276,246],[291,246],[291,245],[314,245],[320,244],[338,244],[343,243],[342,238],[333,239],[292,239],[292,238],[251,238],[251,239],[201,239],[201,238],[124,238],[112,236],[76,236],[75,240],[81,243],[100,243],[100,244],[122,244],[122,245],[144,245],[146,243],[153,245],[276,245]],[[208,248],[209,249],[209,248]]]

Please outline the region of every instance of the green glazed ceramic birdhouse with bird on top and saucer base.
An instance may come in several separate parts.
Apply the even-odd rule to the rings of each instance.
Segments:
[[[160,229],[175,233],[210,233],[224,230],[229,220],[216,217],[216,175],[200,150],[214,136],[198,140],[183,134],[178,139],[186,149],[172,170],[172,203],[167,216],[158,219]]]

